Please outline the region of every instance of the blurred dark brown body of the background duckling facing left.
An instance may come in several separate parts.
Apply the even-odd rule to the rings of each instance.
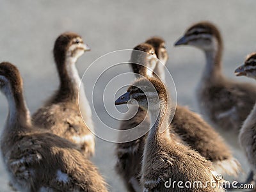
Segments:
[[[222,129],[239,131],[256,101],[256,87],[225,82],[203,88],[198,97],[202,113]]]

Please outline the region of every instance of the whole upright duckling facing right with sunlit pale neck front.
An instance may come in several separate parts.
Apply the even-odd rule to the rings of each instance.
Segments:
[[[63,33],[54,44],[54,60],[60,77],[58,91],[33,115],[33,123],[76,143],[85,156],[95,149],[92,111],[76,69],[77,59],[90,51],[76,33]],[[78,100],[79,98],[79,100]],[[81,116],[79,107],[83,113]],[[84,119],[84,122],[83,122]]]

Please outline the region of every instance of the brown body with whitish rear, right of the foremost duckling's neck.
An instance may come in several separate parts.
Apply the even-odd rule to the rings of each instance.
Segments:
[[[212,162],[216,172],[235,176],[239,173],[240,163],[232,156],[220,134],[200,115],[177,105],[172,127],[184,143]]]

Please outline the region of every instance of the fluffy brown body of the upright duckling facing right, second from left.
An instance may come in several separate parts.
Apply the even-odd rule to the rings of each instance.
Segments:
[[[33,122],[38,127],[51,130],[52,133],[76,143],[87,156],[94,154],[95,137],[84,123],[79,109],[74,106],[45,106],[33,115]]]

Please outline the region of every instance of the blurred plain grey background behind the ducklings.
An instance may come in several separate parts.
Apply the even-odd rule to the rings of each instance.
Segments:
[[[162,36],[170,54],[166,67],[175,81],[178,102],[198,111],[194,90],[204,67],[204,54],[191,47],[174,48],[173,43],[194,22],[212,21],[223,35],[225,76],[237,81],[250,81],[246,77],[235,77],[234,69],[243,62],[246,54],[256,51],[255,6],[256,2],[253,0],[1,0],[0,61],[10,61],[19,68],[24,78],[26,101],[33,113],[58,87],[52,49],[54,40],[60,33],[75,31],[92,48],[92,51],[86,52],[77,61],[81,76],[103,54],[119,49],[132,49],[150,36]],[[129,68],[125,70],[129,71]],[[6,99],[3,95],[0,96],[0,129],[3,129],[8,108]],[[118,124],[115,128],[118,128]],[[106,178],[110,191],[125,191],[122,180],[114,170],[114,149],[114,143],[97,138],[96,154],[92,161]],[[248,166],[243,152],[237,148],[233,150],[247,173]],[[10,191],[2,161],[0,177],[0,191]],[[245,174],[238,180],[243,180],[244,177]]]

